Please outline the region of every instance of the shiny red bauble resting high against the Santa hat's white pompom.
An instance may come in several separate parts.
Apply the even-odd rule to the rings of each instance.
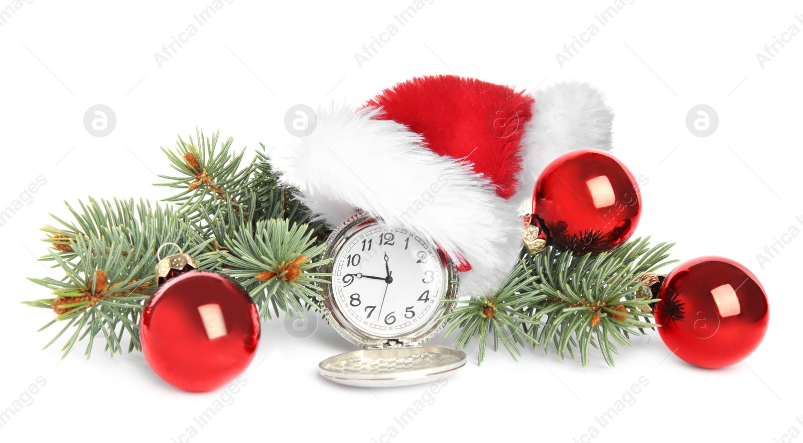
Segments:
[[[579,253],[616,248],[633,235],[641,212],[633,174],[601,150],[556,158],[532,194],[532,213],[549,242]]]

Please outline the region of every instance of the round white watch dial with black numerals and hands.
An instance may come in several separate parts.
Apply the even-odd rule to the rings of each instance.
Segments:
[[[371,224],[335,256],[332,289],[340,311],[358,329],[399,337],[437,312],[446,290],[438,251],[406,229]]]

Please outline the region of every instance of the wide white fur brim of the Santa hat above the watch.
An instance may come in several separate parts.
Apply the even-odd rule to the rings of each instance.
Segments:
[[[359,207],[465,257],[461,297],[498,287],[521,247],[516,207],[471,165],[434,154],[405,125],[372,118],[379,113],[320,110],[312,134],[276,147],[271,162],[330,226]]]

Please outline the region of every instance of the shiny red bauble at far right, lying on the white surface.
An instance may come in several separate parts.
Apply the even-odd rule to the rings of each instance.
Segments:
[[[764,288],[747,268],[727,258],[684,262],[666,276],[658,298],[655,322],[663,343],[699,367],[739,363],[767,332]]]

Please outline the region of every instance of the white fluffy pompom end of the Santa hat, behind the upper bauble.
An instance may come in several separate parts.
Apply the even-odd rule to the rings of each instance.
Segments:
[[[532,119],[524,125],[519,188],[511,199],[520,214],[532,211],[532,191],[544,167],[570,150],[610,150],[613,112],[602,93],[580,82],[559,83],[532,94]]]

